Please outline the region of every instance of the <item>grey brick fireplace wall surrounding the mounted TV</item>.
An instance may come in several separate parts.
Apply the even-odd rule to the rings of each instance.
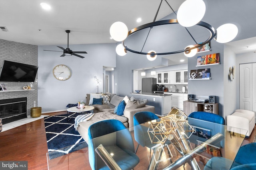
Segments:
[[[4,60],[37,66],[38,46],[0,39],[1,68]],[[5,84],[7,90],[22,90],[23,86],[31,86],[31,88],[34,89],[32,91],[0,92],[0,100],[27,97],[27,115],[30,115],[30,108],[34,107],[34,101],[36,101],[36,106],[38,102],[37,76],[35,82],[0,82],[0,84]]]

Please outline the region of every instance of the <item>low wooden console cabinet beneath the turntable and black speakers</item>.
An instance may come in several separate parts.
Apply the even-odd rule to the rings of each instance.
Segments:
[[[218,115],[218,103],[197,103],[184,101],[184,113],[188,116],[194,111],[205,111]]]

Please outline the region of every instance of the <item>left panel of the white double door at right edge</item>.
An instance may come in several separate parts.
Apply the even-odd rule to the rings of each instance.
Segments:
[[[240,64],[239,74],[240,109],[252,110],[252,64]]]

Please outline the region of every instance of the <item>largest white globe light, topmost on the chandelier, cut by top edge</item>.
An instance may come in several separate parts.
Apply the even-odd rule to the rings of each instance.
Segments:
[[[191,27],[202,20],[205,11],[203,0],[186,0],[178,9],[177,20],[183,27]]]

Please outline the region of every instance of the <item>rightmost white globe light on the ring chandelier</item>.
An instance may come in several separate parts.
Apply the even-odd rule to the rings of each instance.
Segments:
[[[232,23],[226,23],[220,25],[220,27],[216,29],[216,32],[217,37],[215,40],[218,43],[227,43],[229,41],[232,41],[236,37],[236,35],[238,34],[238,28]]]

